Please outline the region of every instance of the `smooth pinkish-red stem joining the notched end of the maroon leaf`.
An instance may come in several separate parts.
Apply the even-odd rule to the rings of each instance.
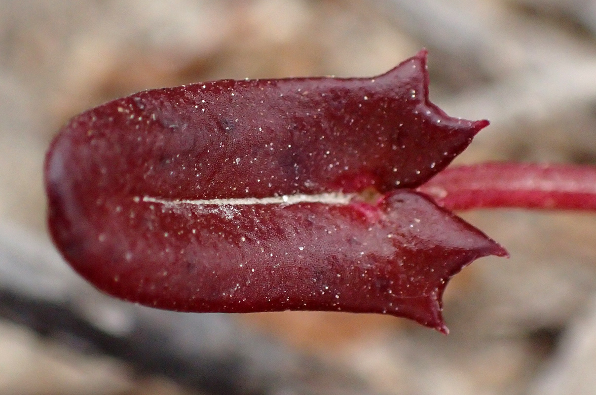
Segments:
[[[447,168],[418,187],[445,208],[596,210],[596,166],[489,162]]]

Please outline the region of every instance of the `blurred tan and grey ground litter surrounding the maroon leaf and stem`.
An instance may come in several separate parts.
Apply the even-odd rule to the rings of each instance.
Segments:
[[[394,317],[120,303],[49,243],[45,150],[112,98],[220,78],[373,76],[430,51],[430,97],[487,118],[459,163],[596,165],[594,0],[0,0],[0,394],[596,394],[596,215],[462,216],[501,242],[447,337]]]

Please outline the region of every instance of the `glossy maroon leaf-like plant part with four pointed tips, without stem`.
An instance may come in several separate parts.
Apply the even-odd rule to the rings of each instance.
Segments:
[[[430,103],[426,51],[374,78],[139,92],[55,138],[49,229],[78,273],[127,301],[386,313],[446,332],[449,279],[507,252],[414,189],[486,125]]]

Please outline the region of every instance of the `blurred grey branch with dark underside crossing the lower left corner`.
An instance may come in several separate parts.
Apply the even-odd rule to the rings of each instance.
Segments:
[[[0,317],[210,394],[370,394],[362,382],[223,314],[154,310],[108,298],[47,242],[0,224]]]

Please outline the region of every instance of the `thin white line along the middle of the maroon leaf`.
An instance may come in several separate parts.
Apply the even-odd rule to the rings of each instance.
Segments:
[[[238,198],[238,199],[204,199],[204,200],[185,200],[185,199],[160,199],[144,196],[143,202],[160,203],[163,205],[188,204],[194,206],[247,206],[247,205],[283,205],[289,206],[298,203],[324,203],[331,205],[347,205],[350,203],[355,193],[319,193],[318,195],[283,195],[269,198]],[[138,201],[138,198],[135,198]]]

